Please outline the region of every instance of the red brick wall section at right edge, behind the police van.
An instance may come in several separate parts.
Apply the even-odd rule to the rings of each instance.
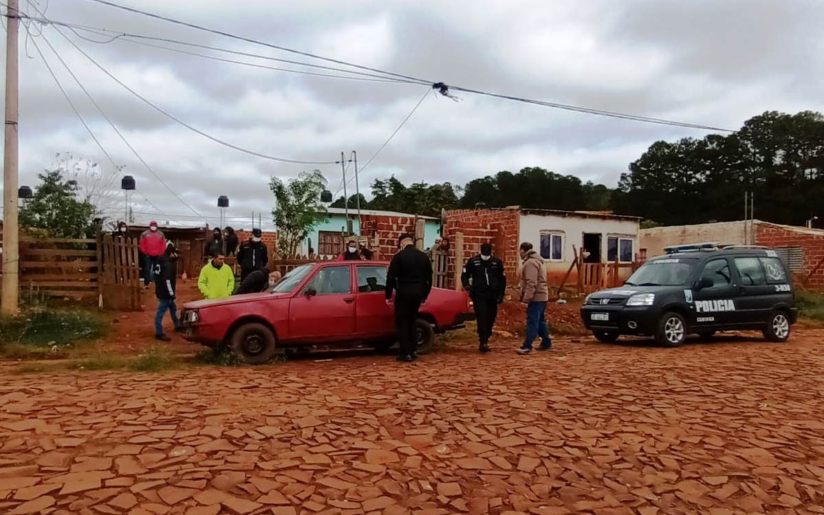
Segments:
[[[757,222],[756,245],[770,247],[798,246],[803,248],[804,269],[803,272],[795,273],[795,284],[812,290],[824,291],[824,265],[822,265],[822,260],[824,260],[824,231]],[[813,270],[817,266],[818,268]],[[809,279],[807,279],[808,276]]]

